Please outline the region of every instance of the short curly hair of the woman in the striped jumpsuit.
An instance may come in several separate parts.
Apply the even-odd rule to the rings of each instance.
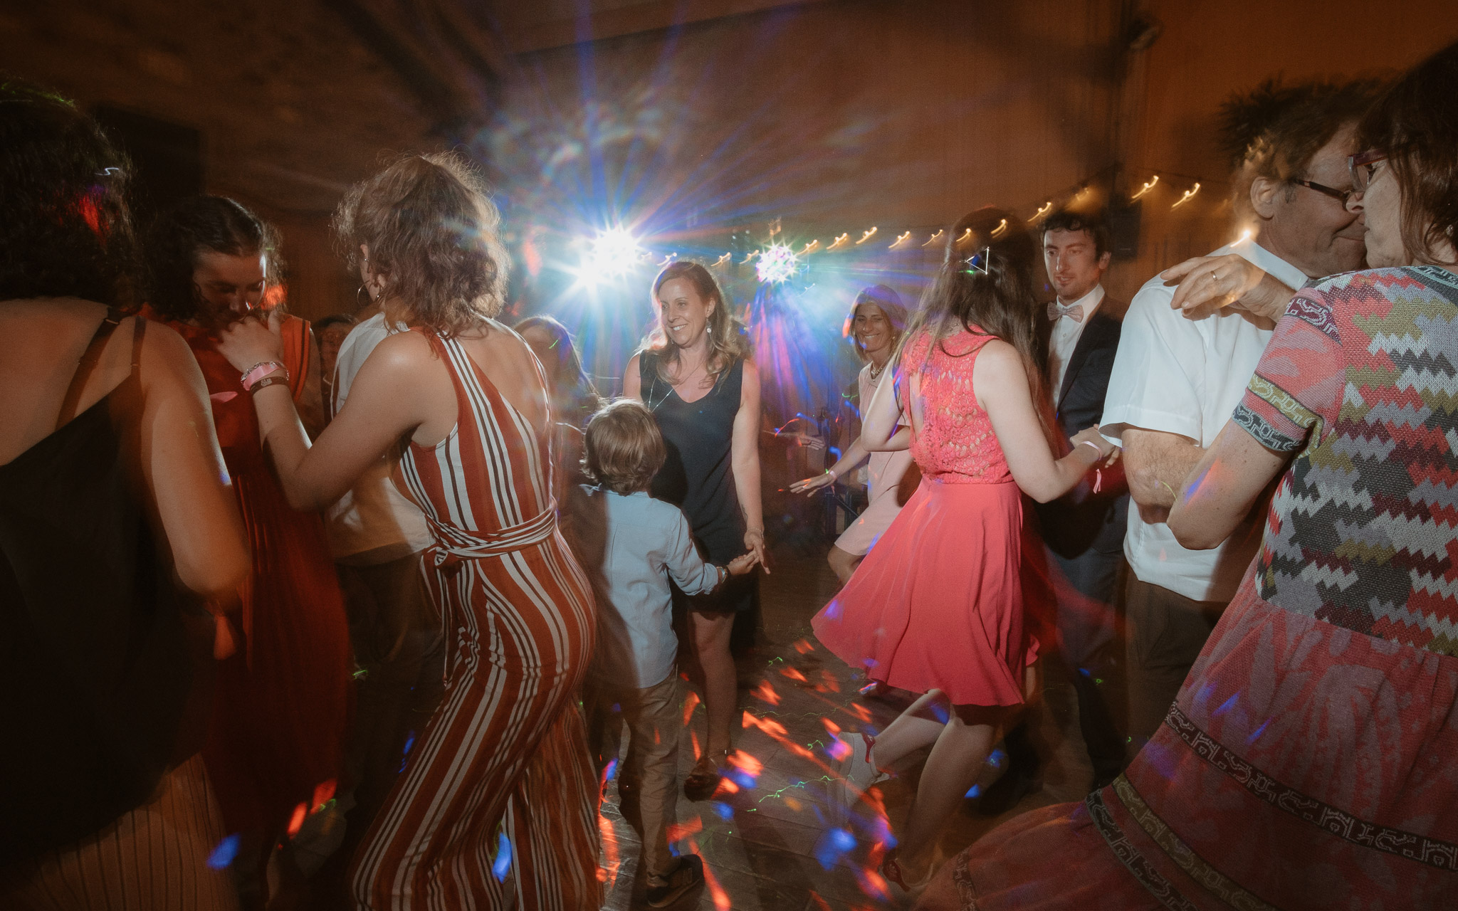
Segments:
[[[407,155],[350,188],[334,230],[351,270],[360,245],[385,275],[386,321],[451,338],[502,312],[502,214],[480,172],[453,152]]]

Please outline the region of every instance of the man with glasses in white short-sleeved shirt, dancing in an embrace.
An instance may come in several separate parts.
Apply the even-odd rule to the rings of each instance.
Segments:
[[[1346,156],[1369,101],[1366,85],[1267,83],[1229,102],[1235,208],[1251,227],[1213,255],[1235,254],[1292,289],[1360,268],[1365,224],[1344,206]],[[1255,510],[1217,548],[1190,551],[1165,525],[1175,491],[1235,411],[1274,328],[1273,315],[1239,306],[1174,310],[1174,290],[1156,275],[1130,303],[1099,421],[1124,447],[1133,497],[1124,554],[1134,748],[1163,722],[1261,533]]]

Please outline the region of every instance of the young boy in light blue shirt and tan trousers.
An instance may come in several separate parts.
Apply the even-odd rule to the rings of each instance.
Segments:
[[[639,796],[647,904],[662,908],[700,880],[698,867],[675,861],[668,847],[682,727],[668,580],[698,595],[730,574],[748,573],[755,561],[745,554],[728,567],[704,563],[684,515],[649,497],[666,450],[642,402],[618,399],[592,415],[585,449],[585,468],[598,487],[574,491],[572,526],[598,598],[598,646],[585,688],[589,745],[601,771],[617,756],[618,732],[627,723],[618,794]]]

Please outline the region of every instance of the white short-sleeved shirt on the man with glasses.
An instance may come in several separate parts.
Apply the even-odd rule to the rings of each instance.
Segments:
[[[1254,241],[1210,254],[1239,254],[1290,287],[1306,275]],[[1171,309],[1175,286],[1155,275],[1124,315],[1099,430],[1115,443],[1124,427],[1162,430],[1209,447],[1245,395],[1271,329],[1235,310],[1188,319]],[[1178,488],[1178,482],[1174,484]],[[1217,548],[1180,547],[1163,522],[1147,523],[1128,501],[1124,555],[1134,576],[1194,601],[1229,601],[1260,547],[1261,522],[1242,523]]]

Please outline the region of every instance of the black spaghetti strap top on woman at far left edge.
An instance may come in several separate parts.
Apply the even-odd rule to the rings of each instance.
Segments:
[[[139,487],[146,321],[127,379],[71,417],[120,321],[96,329],[55,431],[0,465],[0,866],[140,806],[198,746],[179,732],[206,711],[188,697],[208,633],[184,619]]]

